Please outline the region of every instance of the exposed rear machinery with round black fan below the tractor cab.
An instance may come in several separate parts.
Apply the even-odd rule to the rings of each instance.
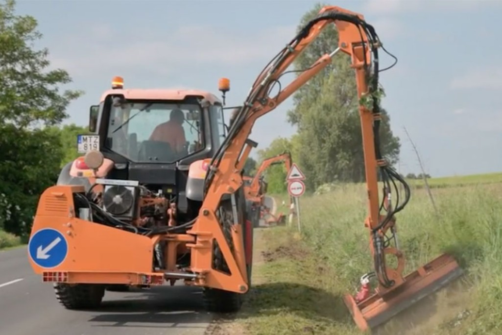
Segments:
[[[167,188],[174,192],[173,188]],[[159,185],[142,185],[134,180],[97,178],[83,193],[74,193],[76,215],[83,220],[147,237],[185,234],[195,221],[180,213],[177,195]],[[152,268],[166,270],[165,239],[154,246]],[[176,267],[189,266],[190,253],[180,244],[176,249]]]

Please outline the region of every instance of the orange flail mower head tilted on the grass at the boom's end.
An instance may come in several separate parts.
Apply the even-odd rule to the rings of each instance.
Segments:
[[[356,303],[350,294],[343,298],[352,318],[361,330],[378,326],[434,293],[463,273],[453,257],[443,254],[405,277],[405,282],[380,296],[375,293]]]

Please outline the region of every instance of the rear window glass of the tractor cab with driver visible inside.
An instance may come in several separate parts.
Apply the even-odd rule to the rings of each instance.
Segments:
[[[175,162],[204,148],[201,114],[194,103],[115,99],[106,147],[134,162]]]

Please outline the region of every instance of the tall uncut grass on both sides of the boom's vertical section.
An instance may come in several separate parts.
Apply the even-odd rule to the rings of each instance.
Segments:
[[[443,252],[453,254],[472,287],[461,302],[470,311],[470,322],[458,322],[440,333],[502,333],[502,184],[438,188],[433,195],[438,216],[423,189],[412,190],[410,202],[396,215],[405,271]],[[364,186],[342,185],[302,198],[301,215],[304,241],[336,272],[330,285],[340,295],[352,292],[358,278],[372,270],[368,230],[363,226]]]

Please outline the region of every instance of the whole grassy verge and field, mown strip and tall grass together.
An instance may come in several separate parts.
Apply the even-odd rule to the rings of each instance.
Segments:
[[[397,214],[405,272],[449,252],[465,275],[373,333],[502,333],[501,181],[502,174],[431,179],[448,185],[432,189],[438,216],[425,189],[412,186]],[[372,270],[364,186],[342,185],[300,204],[301,238],[295,239],[296,221],[260,231],[258,283],[233,323],[248,334],[358,334],[341,296]]]

